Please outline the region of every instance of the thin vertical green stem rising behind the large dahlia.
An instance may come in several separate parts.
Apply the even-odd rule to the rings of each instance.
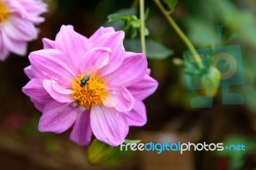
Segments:
[[[140,41],[141,51],[146,55],[146,42],[145,42],[145,17],[144,17],[144,0],[140,0]]]

